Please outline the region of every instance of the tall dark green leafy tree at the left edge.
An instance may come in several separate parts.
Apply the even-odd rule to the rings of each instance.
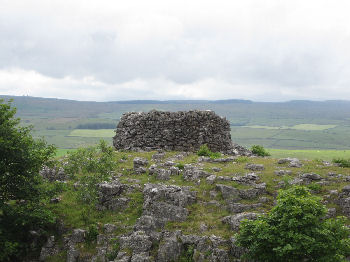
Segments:
[[[18,261],[29,250],[29,231],[53,222],[42,205],[39,170],[55,147],[21,127],[12,101],[0,100],[0,261]]]

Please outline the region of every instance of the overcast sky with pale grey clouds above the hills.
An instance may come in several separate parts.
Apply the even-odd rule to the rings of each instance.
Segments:
[[[0,0],[0,94],[350,100],[349,0]]]

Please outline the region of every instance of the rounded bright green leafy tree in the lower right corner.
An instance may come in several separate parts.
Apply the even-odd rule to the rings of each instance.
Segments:
[[[255,221],[243,221],[237,244],[258,261],[344,261],[349,230],[344,219],[324,219],[326,207],[306,187],[279,192],[277,205]]]

